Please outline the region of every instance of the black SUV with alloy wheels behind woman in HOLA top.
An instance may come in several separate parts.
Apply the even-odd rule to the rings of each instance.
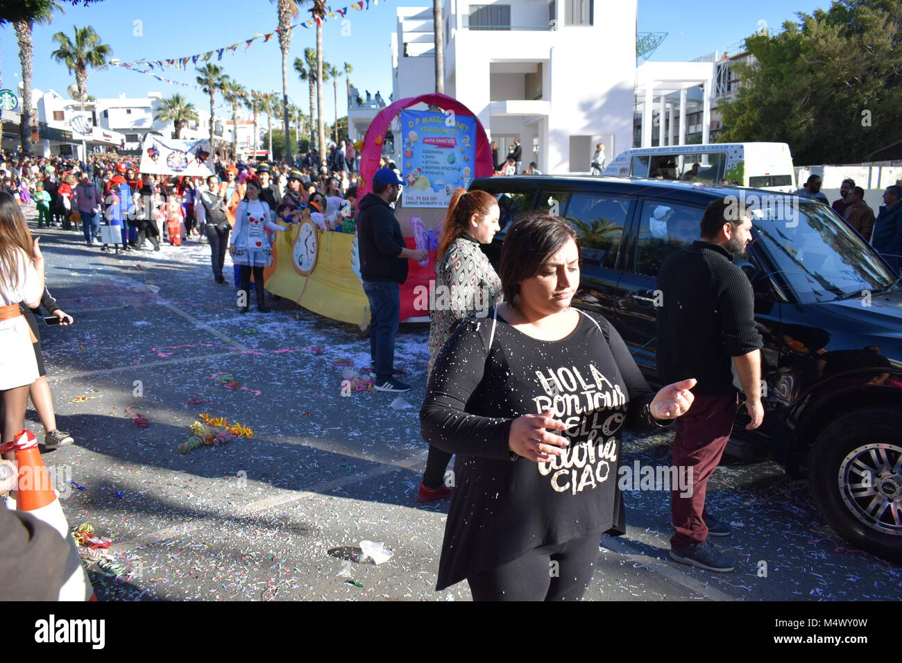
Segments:
[[[699,238],[704,207],[734,196],[753,208],[755,241],[737,262],[755,292],[764,338],[764,425],[734,435],[766,444],[843,538],[902,560],[902,285],[830,207],[758,189],[666,180],[495,177],[502,231],[483,247],[496,266],[511,221],[531,209],[564,216],[580,236],[575,306],[617,327],[650,383],[658,269]],[[738,384],[738,382],[737,382]]]

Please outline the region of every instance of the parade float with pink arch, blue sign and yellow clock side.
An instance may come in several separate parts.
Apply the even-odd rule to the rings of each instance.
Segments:
[[[419,113],[419,115],[437,115],[441,118],[443,127],[448,112],[456,115],[454,124],[459,123],[472,127],[469,133],[459,129],[461,132],[459,139],[457,135],[454,136],[456,141],[460,141],[460,143],[456,143],[455,161],[460,159],[457,155],[463,154],[469,156],[470,161],[465,161],[465,164],[470,165],[455,163],[454,165],[459,166],[455,175],[458,179],[446,180],[442,184],[442,189],[449,186],[453,191],[456,186],[468,186],[472,178],[492,176],[494,171],[492,148],[482,124],[474,113],[454,97],[439,94],[409,97],[383,108],[373,118],[373,122],[366,132],[363,149],[360,153],[359,199],[362,200],[367,193],[373,190],[373,175],[379,169],[382,143],[392,121],[398,118],[402,111],[417,104],[436,106],[445,111],[445,113],[425,111]],[[422,119],[420,119],[420,124],[422,124]],[[450,127],[448,128],[450,129]],[[418,137],[423,134],[428,134],[428,132],[418,134]],[[434,135],[441,136],[443,134],[436,133]],[[470,136],[469,145],[463,143],[463,137],[466,135]],[[460,152],[461,146],[465,147],[465,152]],[[472,152],[467,152],[467,149]],[[436,151],[443,152],[447,162],[447,153],[450,150],[437,148]],[[402,152],[402,165],[403,156]],[[411,167],[412,164],[413,161],[411,161]],[[465,168],[472,170],[467,173]],[[442,177],[438,176],[438,179]],[[431,183],[432,180],[430,180]],[[443,196],[444,193],[442,190]],[[394,216],[400,224],[401,234],[404,235],[404,244],[408,248],[421,249],[428,253],[428,259],[424,262],[408,262],[407,281],[400,286],[399,319],[401,321],[428,321],[429,319],[428,305],[423,308],[422,302],[429,299],[424,296],[424,293],[433,291],[430,290],[430,284],[433,288],[435,286],[436,249],[446,207],[447,198],[436,199],[436,202],[431,203],[429,207],[425,207],[425,204],[424,207],[412,207],[403,198],[395,203]],[[328,214],[327,210],[326,216]],[[291,224],[288,232],[275,235],[272,244],[272,266],[263,270],[266,290],[296,301],[300,306],[321,316],[354,325],[368,324],[370,302],[361,281],[357,235],[326,230],[321,225],[318,216],[322,215],[307,212],[302,216],[299,224]],[[284,221],[279,223],[285,224]]]

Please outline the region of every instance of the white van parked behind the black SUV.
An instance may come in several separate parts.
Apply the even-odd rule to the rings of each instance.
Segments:
[[[796,190],[787,143],[708,143],[640,147],[617,155],[604,169],[612,177],[691,180],[791,193]]]

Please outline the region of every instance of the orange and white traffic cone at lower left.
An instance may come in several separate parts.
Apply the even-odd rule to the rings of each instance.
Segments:
[[[66,559],[66,571],[63,575],[65,580],[60,588],[60,601],[96,601],[85,567],[78,557],[78,548],[69,535],[69,522],[62,512],[60,498],[51,486],[50,475],[47,474],[47,467],[38,450],[38,441],[31,431],[22,430],[16,434],[12,447],[16,465],[19,466],[16,508],[29,511],[69,541],[69,557]]]

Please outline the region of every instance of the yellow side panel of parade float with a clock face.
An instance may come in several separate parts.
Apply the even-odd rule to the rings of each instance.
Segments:
[[[275,235],[266,290],[327,318],[369,324],[370,302],[354,273],[356,235],[322,230],[309,216]]]

